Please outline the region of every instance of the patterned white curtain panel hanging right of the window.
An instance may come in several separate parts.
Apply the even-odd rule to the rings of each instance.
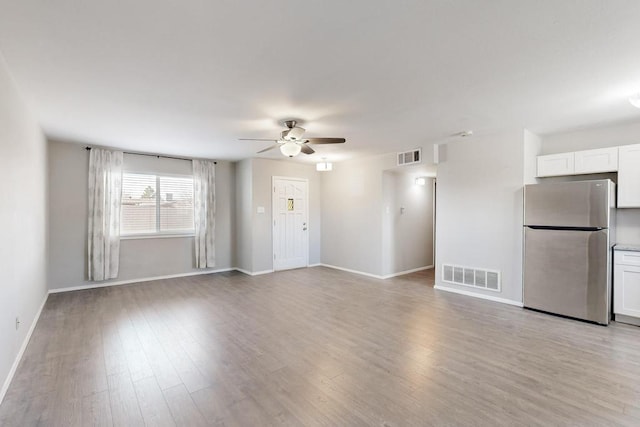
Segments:
[[[215,163],[193,161],[193,214],[196,230],[196,267],[216,265],[214,232],[216,229]]]

